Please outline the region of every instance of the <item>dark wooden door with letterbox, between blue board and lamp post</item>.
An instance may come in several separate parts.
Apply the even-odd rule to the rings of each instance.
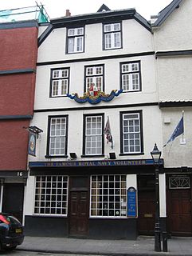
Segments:
[[[155,191],[139,191],[138,204],[138,232],[143,235],[153,235],[155,230]]]

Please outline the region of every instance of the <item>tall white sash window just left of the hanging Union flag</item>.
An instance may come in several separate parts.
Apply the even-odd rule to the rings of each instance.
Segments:
[[[94,122],[96,119],[96,122]],[[91,121],[91,122],[89,122]],[[103,115],[86,115],[84,119],[84,154],[103,154]]]

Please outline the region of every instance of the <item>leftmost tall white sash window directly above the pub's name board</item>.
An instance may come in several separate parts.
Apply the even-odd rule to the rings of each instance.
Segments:
[[[49,118],[49,156],[66,155],[67,129],[67,116]]]

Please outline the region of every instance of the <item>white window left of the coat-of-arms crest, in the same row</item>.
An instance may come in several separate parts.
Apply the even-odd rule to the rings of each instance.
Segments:
[[[69,68],[52,70],[51,97],[66,96],[69,93]]]

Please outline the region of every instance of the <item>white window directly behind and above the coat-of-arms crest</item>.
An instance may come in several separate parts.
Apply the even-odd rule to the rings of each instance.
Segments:
[[[90,89],[91,85],[98,90],[104,91],[104,66],[85,66],[85,91]]]

